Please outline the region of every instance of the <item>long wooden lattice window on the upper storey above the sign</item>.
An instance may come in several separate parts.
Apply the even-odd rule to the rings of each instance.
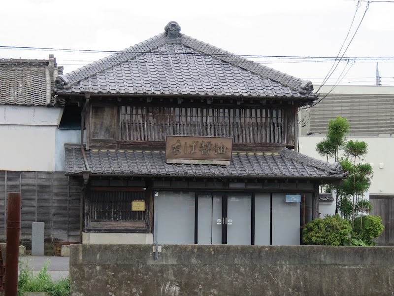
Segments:
[[[165,135],[233,137],[234,143],[282,143],[282,110],[122,106],[122,141],[165,141]]]

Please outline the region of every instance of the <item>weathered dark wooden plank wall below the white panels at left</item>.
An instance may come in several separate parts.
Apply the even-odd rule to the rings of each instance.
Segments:
[[[32,222],[45,222],[45,241],[78,242],[81,181],[64,172],[0,171],[0,241],[5,241],[7,192],[21,192],[21,241]]]

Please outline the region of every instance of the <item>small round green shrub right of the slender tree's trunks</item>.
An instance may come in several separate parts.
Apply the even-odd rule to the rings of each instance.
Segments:
[[[371,215],[363,216],[361,227],[360,224],[361,217],[358,217],[354,220],[353,231],[355,235],[362,239],[368,246],[374,246],[375,242],[372,239],[379,237],[385,227],[382,224],[382,218],[380,216]]]

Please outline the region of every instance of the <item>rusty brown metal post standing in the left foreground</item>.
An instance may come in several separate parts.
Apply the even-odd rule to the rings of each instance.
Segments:
[[[21,193],[8,193],[5,295],[17,296]]]

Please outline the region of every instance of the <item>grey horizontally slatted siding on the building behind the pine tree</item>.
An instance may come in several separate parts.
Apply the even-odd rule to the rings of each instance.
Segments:
[[[347,117],[351,133],[394,133],[393,95],[328,94],[310,112],[311,133],[326,133],[329,119],[338,115]]]

